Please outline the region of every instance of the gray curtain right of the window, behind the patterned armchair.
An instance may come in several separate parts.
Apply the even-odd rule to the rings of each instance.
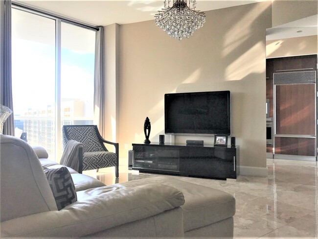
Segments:
[[[104,135],[104,27],[98,27],[95,41],[95,72],[94,72],[94,124],[100,134]]]

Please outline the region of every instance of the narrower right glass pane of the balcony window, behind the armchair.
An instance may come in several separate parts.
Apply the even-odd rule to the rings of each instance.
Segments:
[[[93,123],[95,32],[61,23],[62,124]]]

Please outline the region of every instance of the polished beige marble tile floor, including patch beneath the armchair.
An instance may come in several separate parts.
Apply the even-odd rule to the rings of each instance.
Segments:
[[[318,238],[317,162],[268,159],[268,177],[239,176],[236,181],[178,177],[235,196],[234,238]],[[120,167],[85,173],[105,184],[153,177]]]

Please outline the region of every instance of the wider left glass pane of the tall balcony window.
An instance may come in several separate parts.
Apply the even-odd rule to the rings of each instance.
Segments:
[[[12,9],[15,134],[55,156],[55,21]]]

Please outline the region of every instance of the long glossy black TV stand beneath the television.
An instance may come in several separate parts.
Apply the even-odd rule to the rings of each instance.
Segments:
[[[133,143],[133,169],[140,172],[236,179],[239,146]]]

